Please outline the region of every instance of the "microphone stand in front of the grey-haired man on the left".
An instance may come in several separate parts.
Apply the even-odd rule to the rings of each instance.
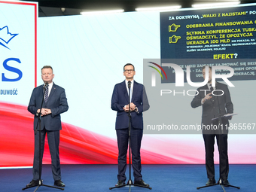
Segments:
[[[47,87],[48,84],[44,84],[44,95],[45,95],[45,90]],[[36,115],[36,117],[38,117],[38,123],[36,125],[36,129],[35,129],[35,135],[36,133],[38,132],[38,124],[39,124],[39,180],[38,180],[38,187],[35,188],[34,192],[36,190],[38,190],[39,187],[41,186],[45,186],[45,187],[52,187],[52,188],[56,188],[56,189],[60,189],[60,190],[64,190],[64,188],[62,187],[56,187],[56,186],[50,186],[50,185],[47,185],[47,184],[43,184],[43,180],[41,179],[41,169],[42,169],[42,154],[41,154],[41,109],[43,107],[43,103],[44,103],[44,95],[43,95],[43,98],[42,98],[42,101],[41,101],[41,107],[40,107],[40,111],[38,113],[38,115]],[[32,186],[32,187],[35,187],[35,186]],[[31,187],[24,187],[22,190],[26,190],[26,189],[29,189]]]

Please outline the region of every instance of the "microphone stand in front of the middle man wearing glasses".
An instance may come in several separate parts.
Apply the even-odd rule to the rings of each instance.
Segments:
[[[128,111],[128,117],[129,117],[129,126],[128,126],[128,130],[129,130],[129,180],[127,182],[127,184],[121,184],[119,186],[115,186],[115,187],[109,187],[109,189],[114,189],[114,188],[120,188],[120,187],[125,187],[125,186],[129,186],[129,191],[131,191],[131,187],[132,186],[136,186],[136,187],[144,187],[144,188],[148,188],[148,189],[152,189],[151,187],[145,187],[142,186],[140,184],[133,184],[132,178],[131,178],[131,110],[130,110],[130,88],[131,88],[131,81],[128,81],[128,99],[129,99],[129,111]]]

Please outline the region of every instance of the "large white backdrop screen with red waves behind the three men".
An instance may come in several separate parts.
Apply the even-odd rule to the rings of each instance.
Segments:
[[[198,87],[187,83],[186,72],[184,87],[176,87],[175,70],[163,67],[168,79],[163,72],[160,72],[163,79],[157,72],[156,86],[152,87],[154,69],[149,66],[157,67],[152,62],[162,66],[166,62],[164,59],[180,66],[183,71],[187,70],[189,64],[191,81],[197,83],[203,81],[201,65],[216,66],[219,63],[223,66],[223,63],[238,62],[238,66],[226,65],[235,73],[228,78],[234,85],[229,89],[234,112],[237,113],[230,123],[233,123],[233,127],[238,127],[239,123],[245,124],[247,130],[237,134],[231,134],[230,130],[229,159],[230,163],[256,163],[256,136],[251,131],[256,130],[256,104],[253,102],[256,92],[253,59],[256,24],[250,11],[255,14],[255,5],[203,10],[190,8],[162,13],[152,11],[38,18],[36,68],[35,63],[26,66],[24,62],[19,68],[24,72],[32,69],[36,72],[23,73],[20,81],[8,83],[9,87],[16,87],[23,80],[29,80],[29,84],[23,84],[25,90],[19,88],[19,98],[2,93],[0,96],[0,166],[32,166],[33,115],[27,111],[27,106],[35,87],[33,83],[36,82],[36,86],[43,84],[41,68],[48,65],[53,67],[53,82],[66,90],[69,103],[69,111],[61,115],[61,163],[116,164],[118,152],[114,127],[117,112],[111,110],[111,96],[114,85],[124,81],[123,66],[128,62],[135,66],[135,81],[145,85],[151,106],[143,114],[142,163],[205,163],[200,130],[197,133],[173,133],[154,128],[154,125],[163,124],[181,127],[201,123],[202,109],[190,107]],[[219,14],[221,17],[218,17]],[[224,25],[239,21],[248,23],[215,26],[216,23]],[[6,25],[2,24],[0,29]],[[207,31],[211,31],[211,34],[207,34]],[[12,29],[11,32],[16,31]],[[238,37],[239,34],[247,36]],[[0,46],[0,49],[7,48]],[[26,58],[31,59],[32,56]],[[14,72],[10,74],[15,75]],[[2,89],[2,84],[3,80],[1,91],[6,89]],[[161,90],[171,92],[160,96]],[[189,94],[187,90],[191,90]],[[174,91],[180,93],[174,95]],[[23,92],[26,94],[22,95]],[[251,130],[248,130],[248,126]],[[216,151],[215,162],[218,163],[217,148]],[[50,163],[47,145],[43,163]]]

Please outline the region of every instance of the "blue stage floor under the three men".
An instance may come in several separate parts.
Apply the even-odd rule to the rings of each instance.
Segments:
[[[115,188],[117,183],[117,165],[62,165],[62,181],[65,190],[41,186],[37,191],[129,191],[129,187]],[[133,171],[133,170],[132,170]],[[256,165],[230,165],[228,180],[230,184],[241,189],[224,187],[226,191],[252,192],[256,191]],[[126,177],[129,178],[129,166]],[[133,175],[133,172],[132,172]],[[131,191],[224,191],[220,185],[197,190],[206,184],[205,165],[142,165],[142,175],[152,190],[131,187]],[[44,184],[53,185],[50,165],[43,165],[42,176]],[[218,165],[215,166],[215,178],[218,179]],[[132,176],[133,179],[133,176]],[[32,180],[32,169],[0,169],[0,191],[34,191],[35,187],[22,190]]]

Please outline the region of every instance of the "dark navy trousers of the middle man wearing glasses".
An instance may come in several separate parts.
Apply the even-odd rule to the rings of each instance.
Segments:
[[[126,180],[126,154],[129,141],[129,130],[122,129],[117,131],[117,145],[118,145],[118,175],[117,179],[121,181]],[[143,130],[131,129],[131,154],[133,164],[134,181],[142,179],[142,163],[141,163],[141,143],[142,143]]]

